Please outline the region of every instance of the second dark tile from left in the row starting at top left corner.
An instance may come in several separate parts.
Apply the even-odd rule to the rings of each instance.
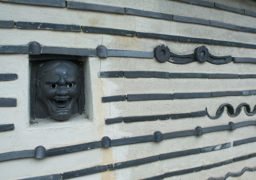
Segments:
[[[67,1],[68,8],[125,14],[125,8]]]

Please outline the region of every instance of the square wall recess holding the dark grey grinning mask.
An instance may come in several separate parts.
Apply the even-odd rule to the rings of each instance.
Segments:
[[[76,121],[85,115],[85,57],[30,56],[30,124]]]

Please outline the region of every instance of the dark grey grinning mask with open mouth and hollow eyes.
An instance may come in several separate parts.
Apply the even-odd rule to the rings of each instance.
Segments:
[[[71,61],[52,60],[39,65],[36,72],[36,92],[49,114],[56,120],[66,120],[80,94],[79,68]]]

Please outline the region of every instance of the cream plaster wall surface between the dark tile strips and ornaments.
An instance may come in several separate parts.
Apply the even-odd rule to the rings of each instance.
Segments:
[[[256,27],[256,19],[217,9],[190,5],[177,1],[80,1],[100,5],[127,7],[146,11],[169,13],[202,19],[215,20],[239,26]],[[211,1],[212,2],[212,1]],[[217,2],[217,0],[215,1]],[[222,1],[223,5],[252,10],[256,3],[251,1]],[[218,2],[217,2],[218,3]],[[224,4],[225,3],[225,4]],[[256,44],[255,34],[237,32],[205,25],[180,23],[131,15],[118,15],[103,12],[73,10],[45,6],[22,5],[0,2],[1,20],[46,22],[57,24],[76,24],[83,26],[125,29],[140,32],[208,38]],[[1,45],[27,45],[37,41],[42,46],[96,49],[104,45],[108,49],[152,52],[160,45],[167,45],[173,53],[190,54],[199,46],[207,46],[216,56],[256,57],[255,49],[185,43],[167,40],[124,37],[118,35],[94,34],[83,32],[62,32],[50,30],[29,30],[0,28]],[[255,120],[242,111],[231,118],[226,112],[212,120],[207,116],[183,119],[156,120],[151,122],[116,123],[106,125],[105,118],[118,116],[155,115],[201,111],[206,107],[211,115],[223,103],[236,108],[240,103],[248,103],[251,108],[256,104],[255,96],[228,96],[201,99],[175,99],[155,101],[102,103],[101,97],[143,93],[212,92],[255,89],[256,79],[157,79],[157,78],[98,78],[99,71],[164,71],[171,73],[235,73],[255,74],[255,65],[229,63],[212,65],[194,62],[175,65],[159,63],[155,58],[87,58],[84,62],[86,77],[86,113],[72,117],[65,122],[38,120],[29,123],[29,55],[1,54],[0,73],[17,73],[18,80],[0,82],[1,97],[17,98],[17,107],[0,108],[0,124],[14,123],[15,130],[0,132],[0,153],[34,149],[43,145],[46,149],[100,140],[103,136],[111,139],[133,137],[179,130],[194,129],[197,126],[209,127]],[[0,162],[0,179],[19,179],[23,177],[60,173],[87,168],[95,165],[127,161],[160,153],[174,152],[191,148],[212,146],[234,140],[255,136],[254,126],[237,128],[235,131],[206,133],[203,136],[173,138],[162,142],[147,142],[122,145],[110,148],[97,148],[81,152],[47,157],[45,159],[24,158]],[[213,152],[189,155],[134,167],[106,171],[74,179],[141,179],[169,171],[211,164],[247,153],[255,152],[256,142],[232,146]],[[167,179],[207,179],[224,176],[227,172],[241,171],[245,166],[254,167],[254,158],[216,167],[201,172],[174,176]],[[253,179],[255,172],[246,171],[235,179]],[[233,179],[232,177],[229,177]]]

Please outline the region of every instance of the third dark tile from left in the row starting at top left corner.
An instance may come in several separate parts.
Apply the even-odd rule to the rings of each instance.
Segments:
[[[137,10],[137,9],[131,9],[131,8],[125,8],[125,14],[150,17],[150,18],[158,18],[163,20],[172,20],[171,14],[157,13],[152,11],[144,11],[144,10]]]

